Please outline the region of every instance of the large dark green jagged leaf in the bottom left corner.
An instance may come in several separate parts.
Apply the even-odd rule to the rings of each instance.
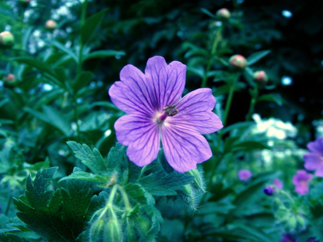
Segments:
[[[27,179],[26,197],[14,199],[17,217],[48,242],[75,242],[92,213],[104,206],[104,194],[92,197],[90,182],[67,180],[67,190],[46,190],[57,167],[39,170],[34,183]],[[74,168],[73,172],[81,171]],[[102,199],[102,197],[104,199]]]

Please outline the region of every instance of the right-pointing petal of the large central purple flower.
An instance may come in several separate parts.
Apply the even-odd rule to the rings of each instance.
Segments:
[[[214,106],[212,90],[199,88],[177,103],[178,113],[167,117],[167,121],[176,126],[192,128],[200,134],[210,134],[223,128],[220,118],[212,112]]]

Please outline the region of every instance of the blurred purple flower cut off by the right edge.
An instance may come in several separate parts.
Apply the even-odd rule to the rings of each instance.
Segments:
[[[309,171],[315,171],[315,176],[323,177],[323,137],[307,144],[309,153],[303,156],[304,167]]]

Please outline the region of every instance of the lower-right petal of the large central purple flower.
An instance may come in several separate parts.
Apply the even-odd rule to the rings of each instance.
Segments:
[[[169,165],[178,172],[192,170],[212,156],[206,139],[190,128],[164,124],[161,143]]]

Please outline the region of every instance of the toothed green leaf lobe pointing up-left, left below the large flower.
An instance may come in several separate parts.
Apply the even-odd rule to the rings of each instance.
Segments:
[[[94,148],[93,151],[86,144],[78,144],[75,141],[66,142],[71,150],[74,152],[75,157],[80,159],[81,162],[89,167],[94,174],[104,174],[108,170],[107,164],[104,162],[98,149]]]

